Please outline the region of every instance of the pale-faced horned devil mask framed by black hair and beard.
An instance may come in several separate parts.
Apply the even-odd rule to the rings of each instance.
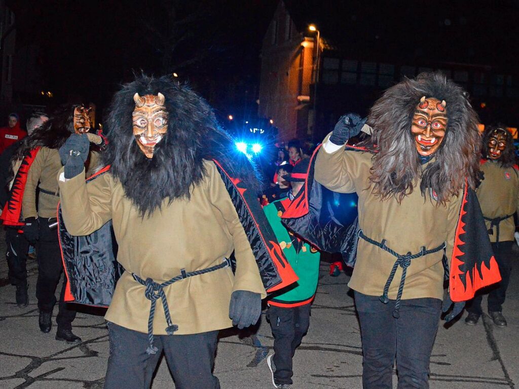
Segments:
[[[133,110],[133,136],[139,148],[147,158],[153,158],[155,145],[159,143],[168,131],[168,112],[164,106],[165,97],[157,95],[133,95],[135,109]]]

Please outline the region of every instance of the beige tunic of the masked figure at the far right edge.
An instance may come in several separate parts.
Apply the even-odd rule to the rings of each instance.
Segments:
[[[476,190],[483,216],[488,218],[512,215],[519,210],[519,172],[513,167],[501,168],[500,163],[488,161],[481,166],[485,174],[479,188]],[[485,220],[487,229],[490,221]],[[489,234],[490,242],[496,242],[497,228]],[[515,223],[513,216],[499,224],[499,241],[513,241]]]

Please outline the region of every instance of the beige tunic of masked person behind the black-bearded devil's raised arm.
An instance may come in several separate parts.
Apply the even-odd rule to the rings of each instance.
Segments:
[[[98,159],[98,154],[91,151],[87,160],[87,176],[91,175]],[[56,217],[60,201],[56,175],[61,168],[61,158],[57,149],[40,148],[27,174],[27,182],[22,199],[23,218],[38,216],[42,218]],[[36,211],[36,188],[38,187],[38,182],[40,189],[54,193],[54,195],[40,191],[38,194],[38,210]]]

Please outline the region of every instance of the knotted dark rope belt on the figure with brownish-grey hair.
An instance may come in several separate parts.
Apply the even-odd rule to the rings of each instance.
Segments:
[[[411,252],[407,252],[407,254],[402,255],[395,251],[393,251],[391,248],[386,246],[386,240],[383,239],[382,242],[374,241],[371,238],[366,237],[362,230],[359,230],[359,237],[364,239],[366,242],[371,243],[377,247],[380,247],[384,251],[387,251],[389,254],[393,255],[394,257],[397,257],[397,260],[394,262],[393,268],[391,269],[391,273],[389,273],[388,280],[386,281],[386,285],[384,286],[384,294],[379,297],[380,301],[382,301],[384,304],[387,304],[389,302],[388,298],[388,292],[389,292],[389,285],[391,285],[391,282],[393,281],[394,274],[397,272],[398,267],[400,266],[402,268],[402,277],[400,279],[400,285],[398,286],[398,294],[397,294],[397,301],[394,304],[394,311],[393,311],[393,317],[399,318],[400,317],[400,300],[402,299],[402,292],[404,290],[404,283],[405,283],[405,276],[407,274],[407,268],[409,265],[411,265],[411,260],[419,257],[426,256],[428,254],[433,254],[436,252],[439,252],[440,250],[443,250],[445,248],[445,242],[443,242],[438,247],[432,248],[430,250],[427,250],[425,246],[422,246],[420,251],[416,254],[411,254]]]

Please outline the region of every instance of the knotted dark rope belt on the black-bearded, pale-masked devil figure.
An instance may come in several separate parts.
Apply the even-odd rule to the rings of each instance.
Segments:
[[[184,280],[187,277],[192,277],[194,275],[200,275],[200,274],[206,274],[218,269],[224,269],[228,268],[230,266],[230,259],[224,258],[223,262],[220,265],[211,266],[207,269],[202,270],[196,270],[191,272],[186,272],[185,269],[181,269],[180,275],[177,275],[176,277],[173,277],[171,280],[163,282],[162,284],[158,284],[155,281],[153,281],[151,278],[147,278],[146,280],[143,280],[141,277],[139,277],[135,273],[131,273],[133,275],[133,279],[140,283],[141,285],[146,287],[146,290],[144,291],[144,296],[148,300],[152,302],[151,307],[149,308],[149,318],[148,318],[148,341],[149,345],[146,349],[146,353],[149,354],[156,354],[158,349],[153,345],[153,318],[155,317],[155,302],[159,298],[162,301],[162,307],[164,307],[164,313],[166,316],[166,322],[168,323],[168,327],[166,327],[166,333],[168,335],[173,335],[173,332],[179,329],[179,326],[176,324],[173,324],[171,321],[171,314],[169,313],[169,307],[168,307],[168,301],[166,300],[166,294],[164,293],[164,289],[166,286],[169,286],[177,281]]]

